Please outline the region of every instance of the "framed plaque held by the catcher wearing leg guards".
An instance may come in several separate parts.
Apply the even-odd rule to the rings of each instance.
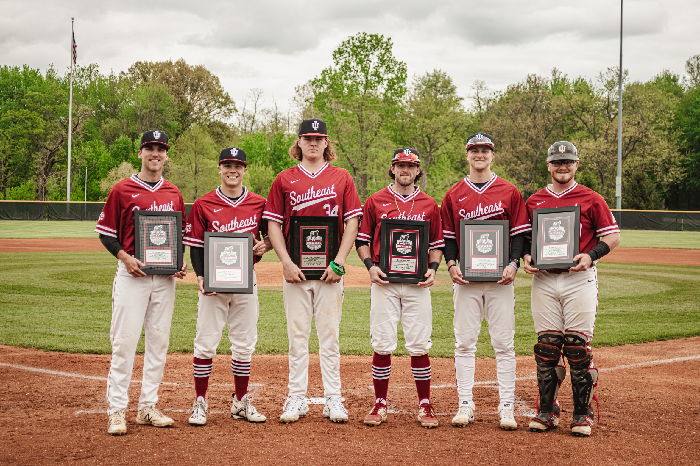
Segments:
[[[540,270],[578,265],[581,206],[535,209],[532,212],[532,266]]]

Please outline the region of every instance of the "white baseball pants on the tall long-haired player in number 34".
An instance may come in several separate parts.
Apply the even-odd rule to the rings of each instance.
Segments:
[[[318,358],[321,360],[323,395],[340,396],[340,340],[338,328],[343,310],[343,281],[284,282],[284,313],[289,338],[289,394],[306,397],[309,385],[309,336],[316,320]]]

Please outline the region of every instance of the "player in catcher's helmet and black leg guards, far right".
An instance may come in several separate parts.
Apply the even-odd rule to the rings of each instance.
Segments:
[[[591,340],[598,308],[596,261],[619,245],[619,228],[603,197],[577,184],[578,151],[568,141],[552,144],[547,151],[547,169],[552,184],[530,196],[526,202],[533,210],[580,205],[580,248],[573,259],[578,265],[560,270],[531,267],[530,243],[523,256],[525,271],[532,274],[532,317],[537,332],[534,347],[537,362],[538,414],[530,430],[544,432],[559,425],[557,393],[566,374],[563,356],[568,360],[573,390],[571,433],[591,435],[593,425],[593,388],[598,370],[593,364]],[[600,240],[598,240],[600,238]]]

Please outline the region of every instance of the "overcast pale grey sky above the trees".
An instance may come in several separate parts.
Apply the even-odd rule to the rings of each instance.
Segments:
[[[183,57],[216,73],[238,104],[259,87],[282,107],[358,31],[391,37],[409,75],[447,71],[464,96],[475,80],[502,89],[554,66],[593,78],[619,52],[614,0],[0,0],[0,10],[0,64],[67,66],[74,16],[79,64],[109,72]],[[631,79],[682,75],[700,54],[699,18],[699,1],[626,0]]]

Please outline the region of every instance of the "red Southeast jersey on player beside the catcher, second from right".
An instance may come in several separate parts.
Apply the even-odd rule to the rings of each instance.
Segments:
[[[459,246],[460,220],[507,220],[510,236],[532,231],[525,201],[514,184],[493,173],[481,188],[464,177],[447,190],[440,205],[442,233]]]

